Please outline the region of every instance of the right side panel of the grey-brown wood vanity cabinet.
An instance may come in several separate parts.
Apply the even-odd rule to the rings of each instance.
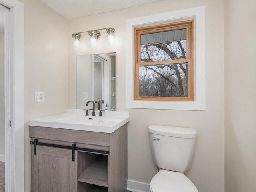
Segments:
[[[127,191],[127,124],[110,135],[108,156],[109,192]]]

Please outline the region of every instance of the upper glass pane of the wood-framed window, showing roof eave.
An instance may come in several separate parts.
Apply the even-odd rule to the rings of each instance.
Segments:
[[[140,36],[141,62],[186,59],[186,29]]]

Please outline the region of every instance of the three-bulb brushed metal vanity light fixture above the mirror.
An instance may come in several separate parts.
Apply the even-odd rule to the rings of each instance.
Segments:
[[[106,30],[108,44],[114,44],[114,33],[116,32],[116,30],[112,27],[108,27],[108,28],[96,29],[96,30],[91,30],[91,31],[83,31],[83,32],[79,32],[79,33],[73,33],[72,37],[75,39],[74,40],[75,48],[79,47],[79,39],[82,37],[81,33],[87,33],[87,32],[90,36],[90,45],[96,46],[97,40],[100,38],[100,30]]]

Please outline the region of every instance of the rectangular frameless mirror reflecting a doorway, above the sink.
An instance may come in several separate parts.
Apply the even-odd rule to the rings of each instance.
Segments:
[[[104,100],[100,109],[116,110],[116,53],[77,56],[76,69],[76,108],[84,109],[92,100],[98,109],[98,101]]]

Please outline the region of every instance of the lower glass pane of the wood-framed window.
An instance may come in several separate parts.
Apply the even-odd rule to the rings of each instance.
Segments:
[[[188,63],[139,66],[140,97],[187,97]]]

